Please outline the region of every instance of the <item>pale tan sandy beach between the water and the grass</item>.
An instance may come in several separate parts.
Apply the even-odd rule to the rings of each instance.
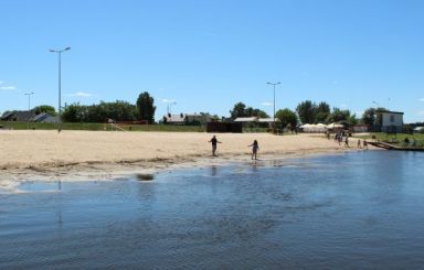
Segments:
[[[250,162],[254,139],[259,162],[347,149],[322,134],[273,136],[218,133],[218,158],[211,156],[212,133],[107,132],[54,130],[0,131],[0,187],[23,180],[110,179],[184,165]],[[353,141],[352,149],[354,149]]]

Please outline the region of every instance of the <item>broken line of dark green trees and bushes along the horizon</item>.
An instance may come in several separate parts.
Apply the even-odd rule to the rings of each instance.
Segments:
[[[49,105],[38,106],[34,110],[35,114],[46,112],[52,116],[56,115],[54,107]],[[153,97],[148,91],[144,91],[138,96],[135,105],[123,100],[114,102],[100,101],[97,105],[89,106],[72,104],[64,108],[62,119],[67,122],[105,122],[108,119],[114,119],[116,121],[146,120],[149,123],[153,123],[155,111]],[[330,105],[325,101],[316,104],[311,100],[305,100],[298,104],[295,110],[289,108],[278,109],[275,116],[280,120],[283,127],[287,125],[296,127],[299,123],[331,123],[340,121],[349,125],[379,126],[382,122],[382,111],[386,111],[386,109],[382,107],[368,108],[362,117],[358,118],[350,110],[337,107],[331,109]],[[237,117],[269,118],[264,110],[248,107],[241,101],[236,102],[233,109],[230,110],[230,118],[226,120],[232,121]],[[218,116],[214,118],[218,118]],[[223,119],[225,120],[225,118]]]

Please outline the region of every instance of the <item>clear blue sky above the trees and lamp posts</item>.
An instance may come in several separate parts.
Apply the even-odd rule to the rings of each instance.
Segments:
[[[156,119],[326,101],[424,121],[421,0],[0,0],[0,112],[155,98]],[[33,95],[24,95],[33,93]],[[29,100],[30,97],[30,100]]]

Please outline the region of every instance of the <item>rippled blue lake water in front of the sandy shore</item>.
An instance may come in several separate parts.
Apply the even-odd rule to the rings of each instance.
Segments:
[[[0,194],[0,269],[422,269],[423,153],[363,151]]]

